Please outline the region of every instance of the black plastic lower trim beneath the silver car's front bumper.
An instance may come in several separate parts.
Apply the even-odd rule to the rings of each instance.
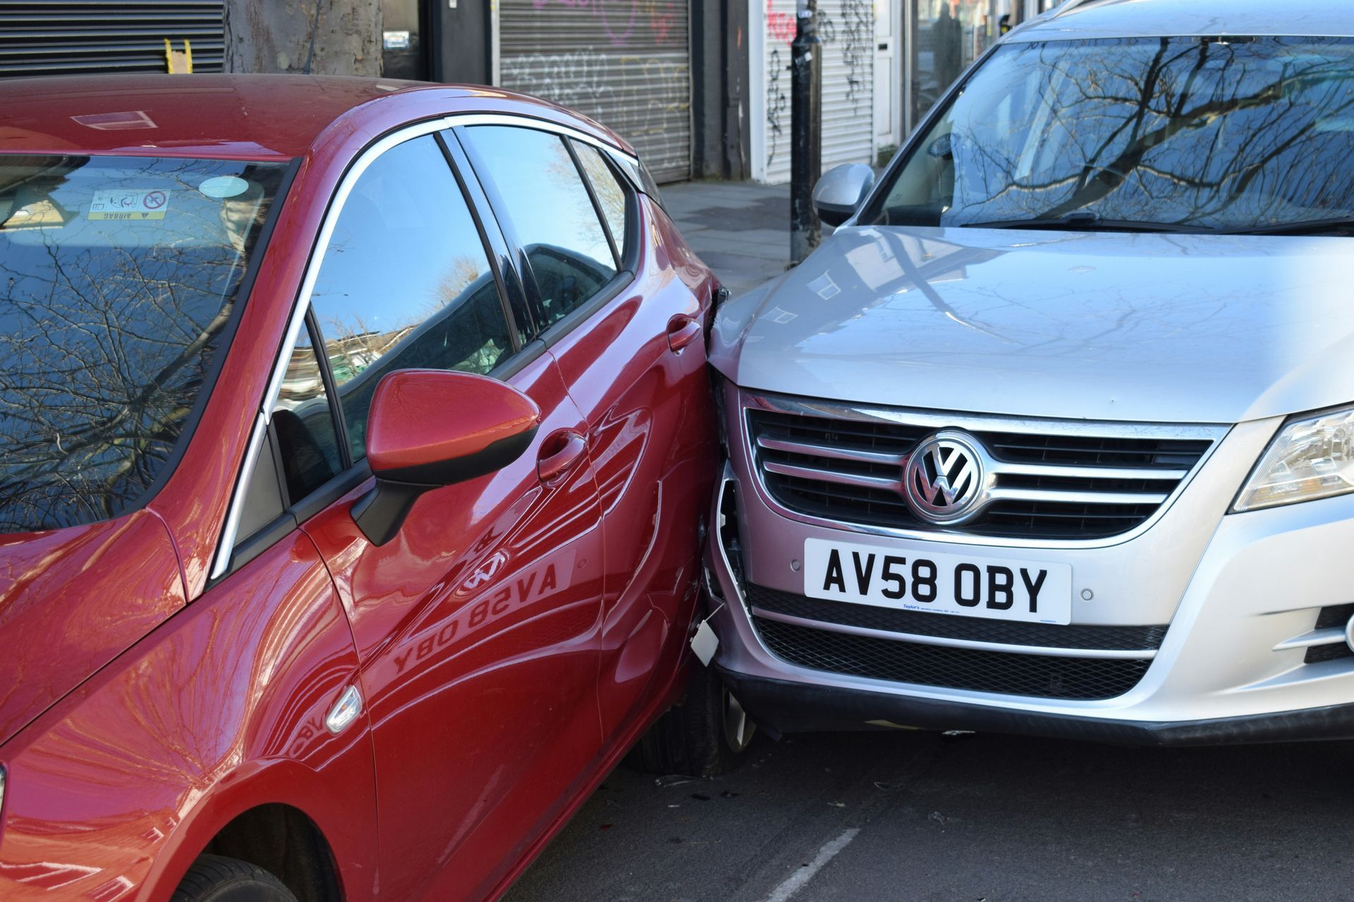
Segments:
[[[1017,733],[1117,745],[1236,745],[1354,738],[1354,705],[1208,721],[1110,721],[984,705],[891,695],[749,676],[720,676],[758,726],[772,733],[890,729],[871,721],[934,730]]]

